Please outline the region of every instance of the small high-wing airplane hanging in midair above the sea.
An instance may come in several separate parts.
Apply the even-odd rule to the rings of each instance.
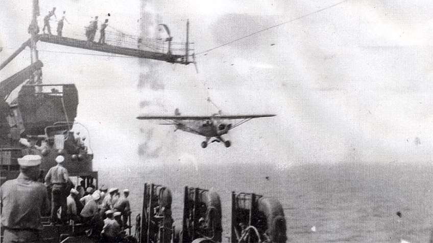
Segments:
[[[194,133],[206,138],[202,142],[202,148],[206,148],[210,139],[214,138],[213,142],[222,142],[226,148],[230,147],[231,143],[229,140],[224,140],[221,136],[227,134],[229,130],[244,124],[245,122],[260,117],[273,117],[273,114],[263,115],[221,115],[213,114],[211,116],[181,116],[179,109],[175,110],[174,116],[149,116],[143,115],[137,117],[139,120],[171,120],[172,123],[162,123],[160,125],[174,125],[176,126],[175,131],[182,130],[190,133]],[[224,122],[223,120],[240,120],[239,122],[232,124]]]

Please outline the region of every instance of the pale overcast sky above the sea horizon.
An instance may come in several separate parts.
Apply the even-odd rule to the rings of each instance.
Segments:
[[[29,38],[28,2],[4,1],[0,7],[0,61]],[[189,18],[190,38],[202,52],[338,1],[148,2],[145,11],[170,27],[174,41],[185,40]],[[138,0],[47,0],[40,1],[39,20],[52,7],[57,16],[65,10],[68,36],[82,34],[92,16],[110,13],[110,26],[138,36],[149,32],[140,30],[140,6]],[[46,43],[38,48],[44,83],[77,85],[77,121],[90,131],[99,166],[122,159],[265,162],[279,168],[338,161],[431,163],[431,13],[428,0],[349,0],[202,53],[199,73],[193,65],[42,51],[99,53]],[[1,79],[27,66],[29,55],[22,52],[0,72]],[[202,149],[199,136],[135,119],[143,113],[171,115],[176,107],[184,115],[217,112],[207,97],[225,114],[277,117],[232,130],[229,149],[221,144]]]

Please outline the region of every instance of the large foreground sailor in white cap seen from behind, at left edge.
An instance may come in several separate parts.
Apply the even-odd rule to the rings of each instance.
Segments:
[[[20,173],[14,180],[6,181],[0,188],[2,200],[1,227],[3,242],[34,242],[43,229],[41,214],[50,211],[50,201],[45,186],[37,182],[39,155],[18,158]]]

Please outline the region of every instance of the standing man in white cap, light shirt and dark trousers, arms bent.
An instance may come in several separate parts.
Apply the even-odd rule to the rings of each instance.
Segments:
[[[66,221],[66,198],[69,191],[67,183],[71,183],[69,174],[62,166],[65,158],[62,155],[56,157],[57,166],[50,168],[45,176],[45,183],[51,185],[51,222],[54,224],[58,221],[57,210],[62,208],[60,221]]]

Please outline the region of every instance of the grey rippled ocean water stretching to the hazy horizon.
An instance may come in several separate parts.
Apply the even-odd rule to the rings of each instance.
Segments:
[[[184,186],[218,192],[226,241],[232,191],[278,199],[288,242],[428,242],[433,226],[433,165],[428,164],[162,163],[99,173],[100,183],[131,190],[133,217],[141,211],[145,182],[169,187],[176,227],[181,227]]]

